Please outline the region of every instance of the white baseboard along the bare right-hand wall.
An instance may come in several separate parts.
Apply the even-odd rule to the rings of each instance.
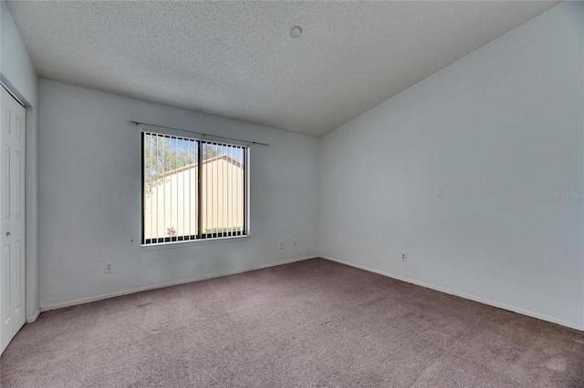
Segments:
[[[537,319],[542,320],[542,321],[558,323],[559,325],[566,326],[566,327],[569,327],[571,329],[576,329],[576,330],[584,332],[584,323],[564,321],[564,320],[561,320],[558,318],[547,316],[545,314],[540,314],[538,312],[525,310],[525,309],[522,309],[520,307],[511,306],[511,305],[508,305],[505,303],[500,303],[498,301],[491,301],[488,299],[479,298],[479,297],[476,297],[474,295],[470,295],[470,294],[467,294],[464,292],[453,291],[453,290],[446,289],[443,287],[434,286],[433,284],[425,283],[423,281],[416,281],[415,279],[412,279],[412,278],[406,278],[404,276],[396,275],[396,274],[393,274],[390,272],[376,270],[376,269],[373,269],[370,267],[366,267],[364,265],[356,264],[354,262],[332,258],[330,256],[320,255],[319,257],[321,257],[323,259],[331,260],[331,261],[336,261],[336,262],[339,262],[341,264],[349,265],[350,267],[359,268],[360,270],[379,273],[380,275],[388,276],[390,278],[397,279],[398,281],[405,281],[405,282],[416,284],[418,286],[422,286],[422,287],[432,289],[435,291],[441,291],[441,292],[444,292],[444,293],[447,293],[450,295],[459,296],[461,298],[468,299],[471,301],[478,301],[479,303],[488,304],[489,306],[498,307],[499,309],[514,311],[514,312],[517,312],[519,314],[527,315],[528,317],[532,317],[532,318],[537,318]]]

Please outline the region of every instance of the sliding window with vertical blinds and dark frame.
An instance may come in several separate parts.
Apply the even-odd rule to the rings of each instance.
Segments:
[[[142,244],[248,235],[241,145],[142,132]]]

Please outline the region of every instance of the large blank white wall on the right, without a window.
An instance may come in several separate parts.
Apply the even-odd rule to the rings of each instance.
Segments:
[[[583,8],[324,137],[320,253],[584,330]]]

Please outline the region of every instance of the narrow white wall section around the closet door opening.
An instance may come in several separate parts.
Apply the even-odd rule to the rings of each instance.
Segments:
[[[38,295],[38,77],[4,0],[0,2],[0,78],[26,105],[26,317],[36,319]]]

